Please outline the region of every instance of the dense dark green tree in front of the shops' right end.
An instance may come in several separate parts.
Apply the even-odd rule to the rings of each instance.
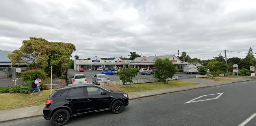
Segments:
[[[168,78],[173,78],[173,75],[177,72],[178,69],[177,67],[173,66],[173,62],[168,58],[157,58],[154,65],[156,70],[153,77],[164,83],[166,83]]]

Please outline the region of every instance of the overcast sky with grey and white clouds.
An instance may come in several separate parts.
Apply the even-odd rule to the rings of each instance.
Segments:
[[[0,50],[42,37],[73,56],[256,53],[256,0],[1,0]],[[228,57],[246,54],[227,53]]]

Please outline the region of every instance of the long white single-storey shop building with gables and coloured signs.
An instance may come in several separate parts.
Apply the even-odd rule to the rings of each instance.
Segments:
[[[136,57],[134,60],[122,60],[117,57],[114,60],[102,60],[95,56],[90,60],[76,59],[74,60],[74,70],[84,69],[84,70],[97,70],[99,67],[105,68],[146,68],[146,69],[156,69],[154,67],[154,62],[157,58],[168,58],[173,62],[173,65],[178,68],[178,72],[183,72],[186,63],[182,63],[178,57],[175,55],[165,55],[165,56],[144,56]]]

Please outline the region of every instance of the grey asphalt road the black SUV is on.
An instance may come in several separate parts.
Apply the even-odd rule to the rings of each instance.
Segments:
[[[217,93],[223,93],[221,96]],[[217,95],[211,95],[217,94]],[[198,98],[203,95],[201,98]],[[210,98],[216,98],[207,100]],[[72,117],[67,126],[238,126],[256,113],[256,80],[130,100],[120,114],[110,111]],[[194,101],[184,104],[190,100]],[[246,125],[255,126],[256,117]],[[43,117],[1,126],[51,126]]]

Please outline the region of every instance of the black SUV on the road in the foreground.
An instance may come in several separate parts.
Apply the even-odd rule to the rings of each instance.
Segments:
[[[111,110],[118,114],[129,104],[128,95],[97,85],[77,85],[57,89],[46,101],[43,117],[55,126],[67,124],[69,118],[84,113]]]

